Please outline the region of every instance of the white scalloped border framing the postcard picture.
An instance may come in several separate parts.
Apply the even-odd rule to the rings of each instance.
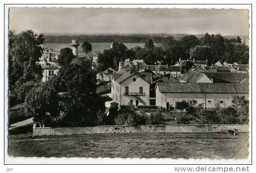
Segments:
[[[51,0],[46,0],[46,1],[41,1],[43,3],[52,3],[53,1]],[[64,1],[61,1],[64,3]],[[73,2],[73,1],[72,1]],[[92,1],[92,2],[89,2],[89,3],[94,3],[95,1]],[[118,1],[107,1],[108,3],[120,3]],[[107,2],[104,2],[104,1],[101,1],[101,3],[107,3]],[[139,3],[138,0],[131,0],[129,3],[133,3],[133,2],[136,2],[136,3]],[[155,1],[155,2],[151,2],[151,3],[159,3],[160,1]],[[178,1],[177,3],[184,3],[184,0],[182,1]],[[10,2],[8,2],[10,3]],[[14,2],[15,3],[15,2]],[[16,1],[16,3],[21,3],[20,1]],[[31,1],[29,3],[35,3],[34,1]],[[68,3],[68,2],[67,2]],[[80,3],[86,3],[84,1],[81,1]],[[141,2],[143,3],[143,2]],[[149,2],[148,2],[149,3]],[[163,3],[170,3],[170,2],[163,2]],[[190,1],[186,1],[185,3],[191,3]],[[194,0],[193,3],[204,3],[204,1],[198,1],[198,0]],[[221,1],[221,0],[215,0],[215,1],[212,1],[212,3],[225,3],[224,1]],[[247,2],[247,1],[232,1],[232,3],[250,3],[250,2]],[[249,18],[249,24],[251,26],[251,23],[252,23],[252,9],[251,9],[251,5],[211,5],[211,4],[201,4],[201,5],[186,5],[186,4],[183,4],[183,5],[161,5],[161,4],[158,4],[158,5],[131,5],[131,4],[122,4],[122,5],[75,5],[75,4],[71,4],[71,5],[68,5],[68,4],[65,4],[65,5],[38,5],[38,4],[35,4],[35,5],[5,5],[4,7],[4,14],[5,14],[5,17],[4,17],[4,36],[5,36],[5,40],[4,40],[4,50],[5,50],[5,53],[4,53],[4,70],[5,70],[5,75],[4,75],[4,81],[5,81],[5,90],[4,90],[4,116],[6,117],[5,118],[5,124],[7,125],[7,110],[8,110],[8,106],[7,106],[7,65],[8,65],[8,62],[7,62],[7,42],[8,42],[8,39],[7,39],[7,35],[8,35],[8,7],[112,7],[112,8],[116,8],[116,7],[119,7],[119,8],[216,8],[216,9],[220,9],[220,8],[225,8],[225,9],[230,9],[230,8],[236,8],[236,9],[249,9],[250,10],[250,18]],[[252,56],[252,52],[251,52],[251,45],[252,45],[252,34],[251,34],[251,27],[250,27],[250,34],[249,34],[249,45],[250,45],[250,70],[252,68],[252,59],[251,59],[251,56]],[[2,45],[3,47],[3,45]],[[3,52],[3,51],[2,51]],[[2,67],[3,67],[3,63],[1,63]],[[3,68],[2,68],[3,69]],[[1,75],[1,78],[3,77],[3,75]],[[3,81],[3,79],[2,79]],[[252,83],[252,78],[251,78],[251,71],[250,71],[250,83]],[[3,85],[1,85],[1,87],[3,87]],[[1,88],[2,91],[3,91],[3,88]],[[251,90],[251,85],[250,85],[250,90]],[[250,95],[250,100],[251,100],[251,95]],[[3,100],[1,100],[3,101]],[[1,104],[1,107],[3,108],[3,103]],[[252,107],[251,103],[250,103],[250,108]],[[251,116],[250,116],[250,119],[251,119]],[[256,118],[254,118],[254,121],[255,121]],[[2,116],[2,122],[3,122],[3,116]],[[252,122],[250,121],[250,127],[251,126]],[[208,159],[178,159],[178,160],[175,160],[175,159],[138,159],[138,158],[128,158],[128,159],[120,159],[120,158],[114,158],[114,159],[110,159],[110,158],[97,158],[97,159],[94,159],[94,158],[38,158],[38,157],[10,157],[8,156],[7,154],[7,126],[5,126],[4,128],[5,130],[5,145],[4,145],[4,157],[5,157],[5,164],[250,164],[251,163],[251,156],[252,156],[252,153],[251,153],[251,147],[250,147],[250,150],[249,150],[249,158],[246,159],[246,160],[208,160]],[[254,132],[256,133],[256,132]],[[3,133],[2,133],[2,136],[3,137]],[[3,138],[2,138],[3,139]],[[251,141],[251,135],[250,135],[250,139],[249,141]],[[3,146],[3,143],[1,143],[1,145]],[[256,150],[256,149],[255,149]],[[254,156],[255,157],[255,156]],[[191,165],[192,167],[193,165]],[[12,167],[12,166],[4,166],[5,168],[3,169],[4,171],[6,171],[6,167]],[[38,170],[39,167],[44,167],[45,166],[29,166],[31,167],[34,167],[34,170],[27,170],[25,169],[24,166],[18,166],[20,167],[21,170],[25,170],[26,172],[41,172],[40,170]],[[49,167],[52,167],[52,166],[49,166]],[[71,166],[70,166],[71,167]],[[73,166],[72,166],[73,167]],[[76,166],[77,168],[80,167],[80,166]],[[104,166],[105,167],[105,166]],[[131,166],[130,166],[131,167]],[[135,166],[132,166],[135,168]],[[150,168],[151,167],[151,168]],[[155,170],[154,168],[152,168],[152,166],[150,166],[148,168],[150,168],[150,172],[151,171],[157,171],[159,172],[159,170]],[[166,166],[163,166],[162,168],[164,168]],[[169,167],[173,167],[173,166],[169,166]],[[195,167],[195,166],[193,166]],[[235,167],[234,165],[230,165],[230,167]],[[24,168],[24,169],[22,169]],[[118,172],[131,172],[132,170],[133,171],[136,171],[136,169],[130,169],[130,170],[125,170],[125,169],[122,169],[122,167],[119,167],[119,168],[113,168],[114,170],[112,170],[111,172],[116,172],[118,170]],[[20,171],[21,171],[20,170]],[[67,166],[65,167],[62,167],[62,170],[61,171],[64,171],[64,170],[69,170],[71,171],[70,169],[67,168]],[[57,171],[57,169],[56,169]],[[59,168],[58,168],[58,171]],[[73,170],[74,171],[74,170]],[[104,169],[102,170],[104,171]],[[166,170],[168,172],[174,172],[174,170]],[[82,171],[81,171],[82,172]],[[83,172],[87,172],[86,170],[83,170]]]

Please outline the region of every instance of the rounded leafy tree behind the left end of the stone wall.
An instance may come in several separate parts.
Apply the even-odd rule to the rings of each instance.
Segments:
[[[45,121],[56,116],[58,96],[51,83],[42,83],[28,91],[25,97],[24,109],[26,115],[33,117],[40,127],[45,126]]]

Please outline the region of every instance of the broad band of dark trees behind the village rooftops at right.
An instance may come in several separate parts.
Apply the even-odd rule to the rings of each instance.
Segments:
[[[217,61],[228,63],[249,63],[249,47],[242,43],[241,38],[225,38],[221,34],[205,33],[204,37],[194,35],[181,37],[165,37],[163,45],[155,46],[155,40],[145,41],[144,47],[128,49],[124,43],[114,41],[111,49],[104,50],[98,56],[98,71],[111,67],[118,69],[119,62],[124,59],[143,59],[146,64],[174,65],[181,60],[208,60],[208,65]]]

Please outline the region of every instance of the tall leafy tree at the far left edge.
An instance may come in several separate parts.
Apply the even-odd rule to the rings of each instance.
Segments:
[[[19,34],[9,33],[9,84],[10,90],[16,82],[24,83],[35,80],[36,76],[42,78],[42,67],[38,63],[42,56],[41,44],[45,37],[32,30]]]

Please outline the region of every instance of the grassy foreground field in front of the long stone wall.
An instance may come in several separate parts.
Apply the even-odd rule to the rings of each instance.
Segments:
[[[126,133],[32,137],[10,134],[11,156],[245,158],[248,133]]]

